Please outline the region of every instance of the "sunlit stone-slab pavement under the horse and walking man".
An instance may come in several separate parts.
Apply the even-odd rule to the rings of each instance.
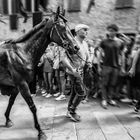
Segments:
[[[80,104],[77,112],[82,121],[66,118],[66,101],[33,97],[38,117],[48,140],[140,140],[140,120],[132,106],[119,103],[104,110],[98,100]],[[32,114],[19,95],[11,112],[14,126],[5,128],[4,112],[8,97],[0,96],[0,140],[37,140]]]

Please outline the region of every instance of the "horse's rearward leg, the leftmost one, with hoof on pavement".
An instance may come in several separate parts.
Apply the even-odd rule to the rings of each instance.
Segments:
[[[9,103],[5,112],[5,117],[6,117],[6,127],[11,127],[13,125],[12,121],[10,120],[9,116],[10,116],[10,111],[12,109],[12,106],[15,102],[15,99],[18,95],[18,90],[16,88],[13,88],[11,91],[11,96],[9,98]]]

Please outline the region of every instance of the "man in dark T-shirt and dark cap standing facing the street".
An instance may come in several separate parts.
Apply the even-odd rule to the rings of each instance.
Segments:
[[[102,67],[102,102],[103,108],[107,109],[108,103],[116,106],[116,101],[113,100],[115,94],[119,72],[124,72],[124,68],[119,64],[119,58],[122,53],[124,44],[123,41],[116,37],[119,28],[116,24],[107,26],[107,37],[101,41],[100,47],[104,51],[103,67]]]

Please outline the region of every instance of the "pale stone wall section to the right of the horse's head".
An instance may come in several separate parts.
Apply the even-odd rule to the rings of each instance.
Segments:
[[[95,0],[89,14],[86,13],[89,0],[82,1],[80,13],[68,13],[67,17],[73,25],[85,23],[90,26],[89,37],[95,38],[105,34],[106,26],[116,23],[121,32],[136,33],[140,27],[140,1],[134,0],[134,8],[115,9],[115,0]]]

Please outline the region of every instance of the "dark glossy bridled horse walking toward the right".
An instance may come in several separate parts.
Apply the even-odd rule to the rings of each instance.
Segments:
[[[31,97],[29,88],[34,77],[39,60],[50,42],[55,42],[65,49],[77,52],[78,46],[70,29],[67,19],[60,14],[60,8],[43,23],[31,29],[26,37],[28,40],[23,45],[18,41],[9,41],[0,46],[0,90],[2,94],[9,95],[9,103],[5,112],[6,127],[13,125],[10,119],[10,111],[17,95],[20,93],[32,112],[34,125],[38,131],[38,140],[45,140],[47,136],[42,131],[37,109]]]

